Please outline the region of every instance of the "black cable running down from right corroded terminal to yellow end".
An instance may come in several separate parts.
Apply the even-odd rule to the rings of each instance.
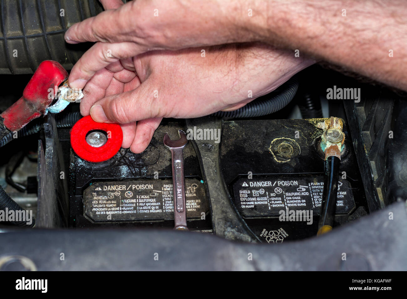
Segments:
[[[319,218],[318,223],[318,235],[330,231],[333,227],[338,192],[339,164],[341,164],[341,159],[330,156],[326,158],[324,163],[324,190],[322,192],[321,218]]]

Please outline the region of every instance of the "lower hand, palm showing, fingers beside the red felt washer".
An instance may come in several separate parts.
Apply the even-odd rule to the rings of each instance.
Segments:
[[[201,50],[153,51],[111,63],[86,84],[81,113],[122,124],[122,147],[141,153],[163,117],[239,109],[314,63],[262,44]]]

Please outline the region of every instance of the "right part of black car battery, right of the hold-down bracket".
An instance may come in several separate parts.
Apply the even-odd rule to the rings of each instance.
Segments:
[[[315,236],[324,185],[319,146],[325,119],[223,123],[221,168],[236,209],[267,243]],[[346,123],[335,225],[366,214],[367,203]]]

